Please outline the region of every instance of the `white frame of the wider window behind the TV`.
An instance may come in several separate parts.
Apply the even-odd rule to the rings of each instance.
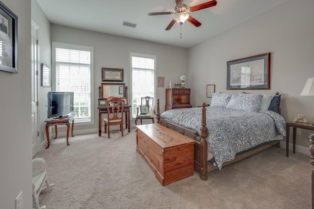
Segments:
[[[59,42],[52,42],[52,91],[55,91],[55,80],[56,80],[56,60],[55,60],[55,49],[63,48],[70,50],[79,50],[79,51],[88,51],[90,52],[90,118],[79,118],[75,119],[76,125],[91,125],[94,124],[94,48],[74,45],[74,44],[66,44]]]

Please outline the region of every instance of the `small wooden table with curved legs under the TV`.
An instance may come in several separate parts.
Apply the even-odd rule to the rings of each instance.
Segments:
[[[54,126],[54,129],[55,129],[55,137],[54,138],[57,138],[57,125],[67,125],[67,145],[69,146],[69,131],[70,131],[70,123],[72,123],[72,128],[71,128],[71,135],[72,137],[74,136],[73,135],[73,127],[74,127],[74,116],[70,116],[70,117],[66,117],[66,118],[59,118],[59,119],[52,119],[52,118],[49,118],[45,121],[46,123],[46,136],[47,136],[47,147],[46,149],[49,148],[50,146],[50,140],[49,140],[49,130],[48,128],[50,126]]]

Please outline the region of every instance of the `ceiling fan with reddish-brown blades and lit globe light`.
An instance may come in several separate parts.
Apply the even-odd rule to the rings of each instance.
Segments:
[[[176,6],[175,6],[175,9],[173,12],[152,12],[152,13],[148,13],[148,15],[152,16],[152,15],[172,15],[172,14],[175,14],[175,16],[173,17],[173,20],[166,27],[166,30],[170,30],[171,27],[176,22],[178,22],[180,25],[182,25],[185,20],[187,20],[188,22],[190,22],[194,26],[199,27],[202,24],[200,22],[198,22],[197,20],[195,20],[194,18],[192,18],[188,13],[189,12],[195,12],[195,11],[201,10],[201,9],[206,9],[206,8],[215,6],[216,4],[217,4],[216,0],[211,0],[209,2],[202,3],[202,4],[188,8],[187,5],[183,3],[183,0],[176,0]]]

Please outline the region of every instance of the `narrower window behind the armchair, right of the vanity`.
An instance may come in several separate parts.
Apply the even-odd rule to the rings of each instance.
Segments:
[[[141,97],[154,97],[156,104],[156,56],[131,53],[131,94],[132,118],[136,117],[136,107],[141,104]]]

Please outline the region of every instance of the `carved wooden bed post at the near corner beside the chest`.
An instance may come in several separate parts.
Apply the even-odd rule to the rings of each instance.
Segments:
[[[200,178],[201,180],[207,180],[207,141],[206,138],[208,136],[208,128],[206,127],[206,104],[202,104],[202,127],[200,128],[200,136],[202,137],[200,143],[200,151],[201,151],[201,170],[200,170]]]

